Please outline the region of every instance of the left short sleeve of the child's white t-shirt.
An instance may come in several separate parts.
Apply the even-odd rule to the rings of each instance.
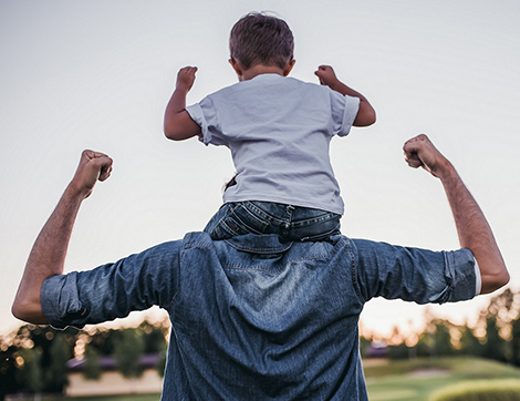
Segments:
[[[186,107],[191,120],[194,120],[202,132],[200,141],[205,145],[226,145],[226,137],[222,135],[218,119],[218,111],[209,96],[202,99],[200,103],[195,103]]]

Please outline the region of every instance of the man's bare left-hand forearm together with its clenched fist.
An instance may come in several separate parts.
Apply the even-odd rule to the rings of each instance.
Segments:
[[[66,249],[80,205],[97,181],[112,172],[112,160],[103,153],[84,151],[76,173],[38,236],[25,265],[12,315],[32,323],[46,323],[40,301],[43,281],[63,274]]]

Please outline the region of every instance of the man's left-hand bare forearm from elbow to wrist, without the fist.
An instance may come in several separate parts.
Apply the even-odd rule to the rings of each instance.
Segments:
[[[72,227],[82,199],[84,194],[69,186],[40,232],[12,305],[12,313],[17,318],[33,323],[46,323],[40,291],[48,277],[63,274]]]

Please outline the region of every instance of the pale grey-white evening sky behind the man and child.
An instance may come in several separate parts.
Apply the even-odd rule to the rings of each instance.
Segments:
[[[458,248],[440,183],[404,162],[403,143],[426,133],[479,202],[520,289],[517,0],[0,0],[0,335],[21,325],[10,306],[27,257],[82,150],[107,153],[114,172],[82,205],[66,271],[204,228],[233,174],[229,151],[166,140],[164,110],[185,65],[199,69],[188,104],[237,82],[229,31],[250,11],[291,27],[292,76],[318,82],[330,64],[377,112],[331,143],[343,234]],[[361,322],[379,336],[417,329],[426,312],[471,322],[489,299],[375,299]]]

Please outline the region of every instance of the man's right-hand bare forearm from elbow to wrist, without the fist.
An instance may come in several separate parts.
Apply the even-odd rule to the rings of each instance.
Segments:
[[[470,249],[479,265],[481,294],[492,292],[509,281],[509,274],[491,227],[449,162],[437,174],[448,196],[460,246]]]

